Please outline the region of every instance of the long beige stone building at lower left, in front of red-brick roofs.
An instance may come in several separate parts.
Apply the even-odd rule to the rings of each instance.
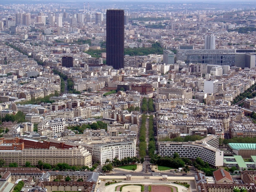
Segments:
[[[19,166],[25,166],[26,162],[29,161],[31,165],[36,166],[41,160],[51,165],[67,163],[69,165],[92,166],[92,155],[81,146],[68,149],[52,146],[49,149],[0,150],[0,156],[7,165],[17,163]]]

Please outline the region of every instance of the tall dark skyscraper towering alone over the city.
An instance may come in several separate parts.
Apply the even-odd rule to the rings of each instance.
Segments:
[[[124,68],[124,10],[107,10],[107,65]]]

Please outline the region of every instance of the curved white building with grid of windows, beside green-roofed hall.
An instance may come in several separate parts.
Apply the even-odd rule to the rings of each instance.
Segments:
[[[159,142],[158,151],[160,156],[173,156],[178,153],[180,157],[200,157],[214,167],[223,166],[223,151],[203,142]]]

